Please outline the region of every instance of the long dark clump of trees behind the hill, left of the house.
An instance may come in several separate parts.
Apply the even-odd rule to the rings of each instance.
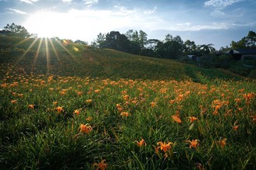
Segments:
[[[171,34],[167,34],[165,40],[148,39],[147,33],[133,29],[128,30],[125,34],[119,33],[119,31],[99,33],[92,46],[172,59],[188,54],[201,55],[215,52],[212,43],[196,45],[194,41],[186,40],[184,42],[180,36]]]

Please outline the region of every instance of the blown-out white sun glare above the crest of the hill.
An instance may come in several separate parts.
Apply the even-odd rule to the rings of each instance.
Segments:
[[[102,30],[111,30],[108,12],[75,10],[67,12],[37,11],[28,16],[23,26],[29,33],[41,37],[59,37],[69,40],[94,40]],[[114,20],[114,23],[116,20]]]

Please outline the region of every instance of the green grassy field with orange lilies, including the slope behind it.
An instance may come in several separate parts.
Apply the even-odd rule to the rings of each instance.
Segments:
[[[3,169],[256,168],[254,80],[73,43],[35,60],[37,43],[2,46]]]

